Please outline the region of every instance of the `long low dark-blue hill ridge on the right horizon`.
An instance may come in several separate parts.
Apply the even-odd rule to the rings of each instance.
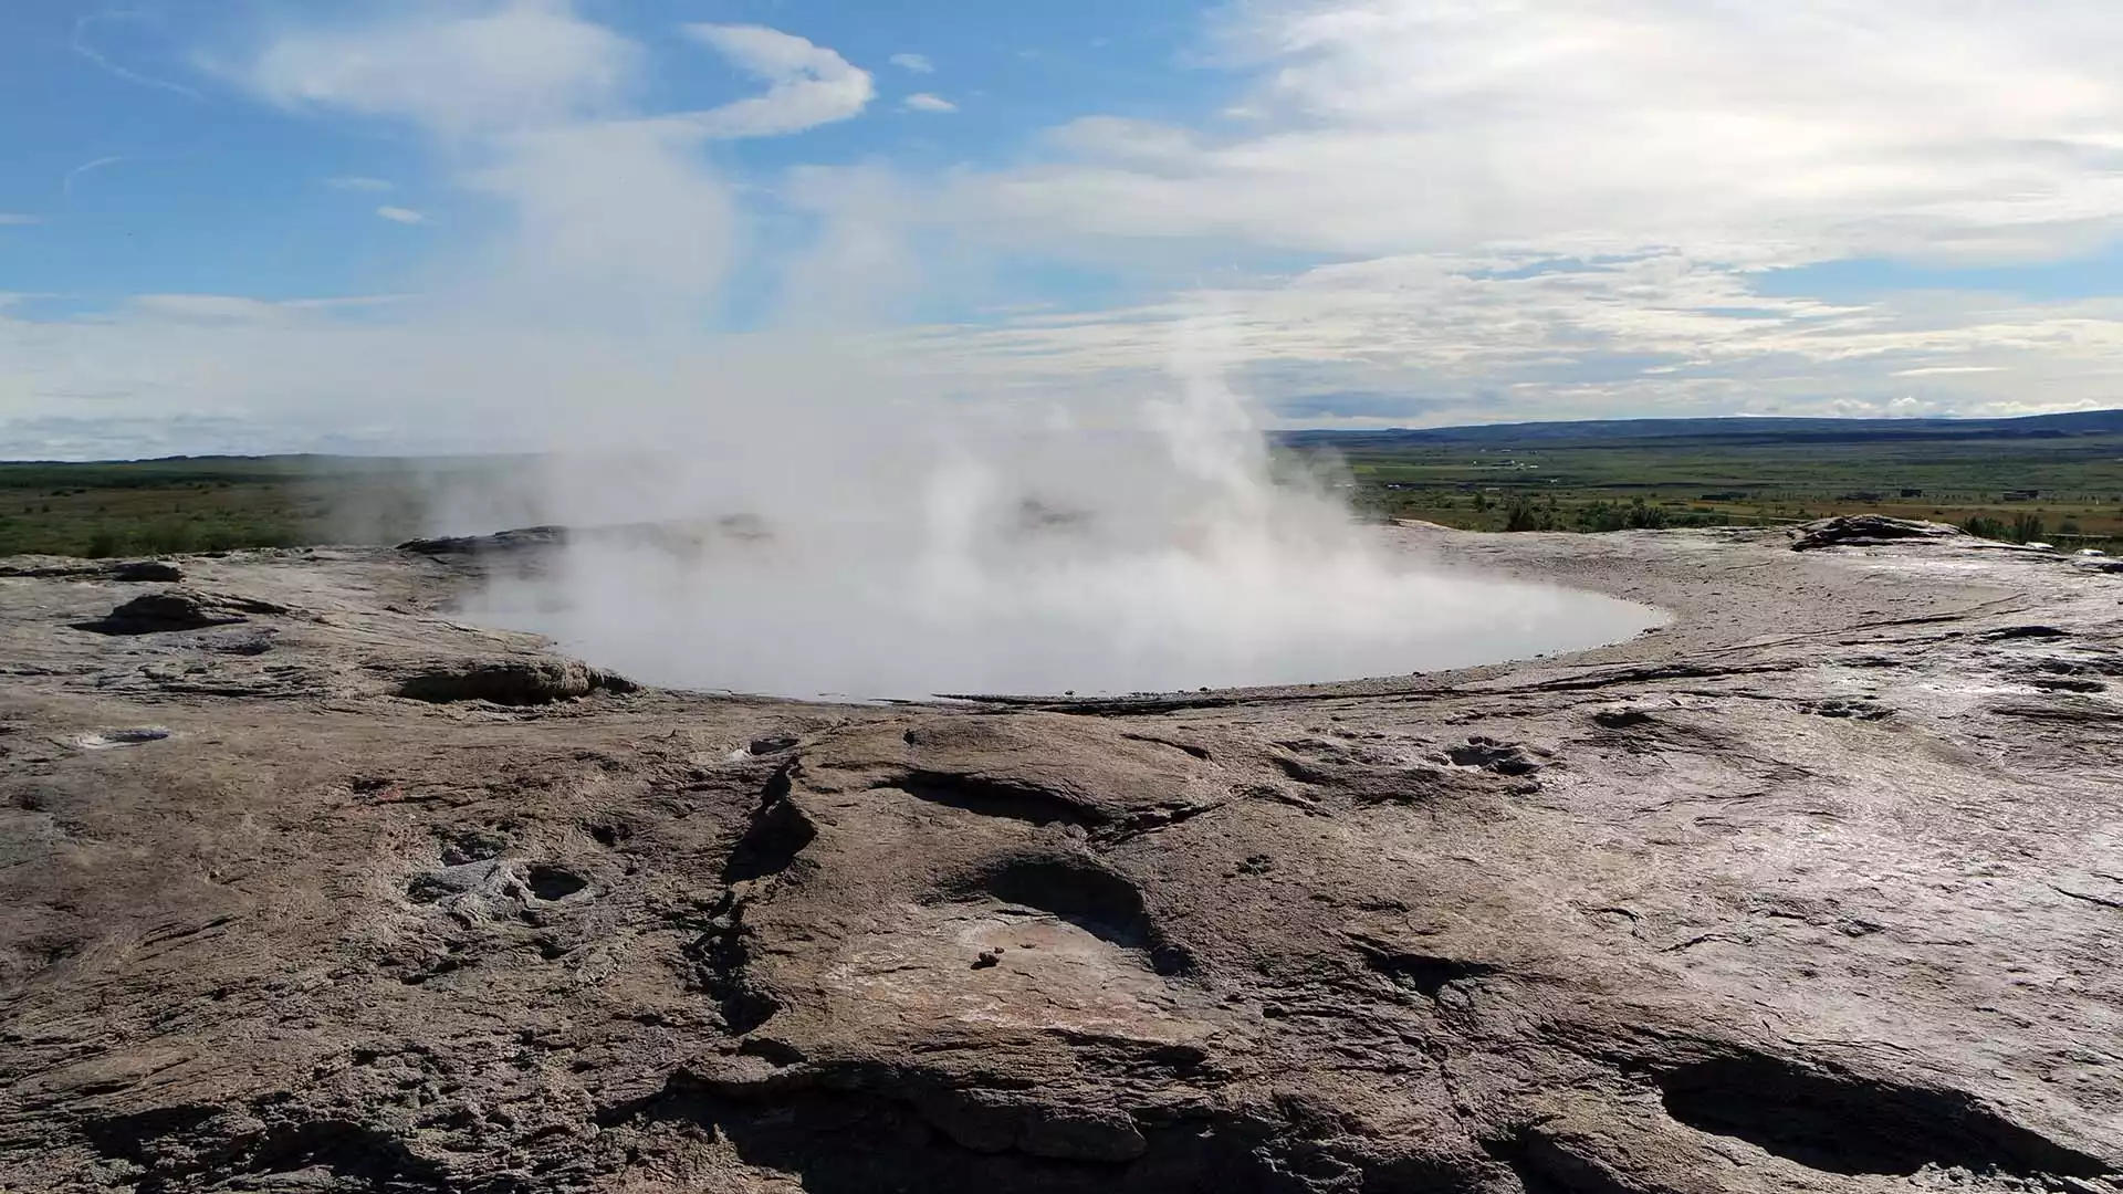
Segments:
[[[1488,423],[1386,431],[1280,431],[1291,448],[1539,446],[1539,444],[1879,444],[1898,440],[2057,440],[2123,433],[2123,410],[2027,414],[2021,419],[1588,419],[1573,423]]]

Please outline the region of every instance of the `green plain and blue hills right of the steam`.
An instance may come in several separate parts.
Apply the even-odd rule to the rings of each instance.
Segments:
[[[1879,512],[2004,540],[2123,540],[2123,412],[2015,421],[1522,425],[1291,433],[1384,518],[1505,531],[1783,525]]]

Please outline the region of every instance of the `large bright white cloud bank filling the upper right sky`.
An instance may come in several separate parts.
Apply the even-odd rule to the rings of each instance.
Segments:
[[[1100,236],[1363,255],[2025,259],[2123,232],[2123,8],[1267,0],[1238,130],[1083,121],[981,200]]]

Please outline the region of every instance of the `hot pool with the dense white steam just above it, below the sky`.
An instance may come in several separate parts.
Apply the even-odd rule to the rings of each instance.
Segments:
[[[654,684],[851,699],[1374,678],[1660,620],[1386,550],[1331,484],[1278,470],[1212,376],[1144,410],[1136,431],[879,431],[815,489],[690,450],[558,459],[556,521],[582,495],[567,478],[594,476],[599,512],[631,527],[573,535],[467,614]],[[614,506],[616,487],[633,497]]]

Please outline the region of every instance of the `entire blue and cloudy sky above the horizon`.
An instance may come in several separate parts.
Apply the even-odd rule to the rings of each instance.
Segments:
[[[1204,353],[1308,427],[2123,406],[2119,51],[2112,0],[4,4],[0,457]]]

